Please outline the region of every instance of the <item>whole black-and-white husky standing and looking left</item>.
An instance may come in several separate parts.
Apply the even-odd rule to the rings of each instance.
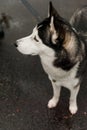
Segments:
[[[66,87],[70,90],[69,110],[75,114],[87,58],[87,7],[76,11],[70,22],[50,2],[48,17],[36,25],[31,35],[17,40],[15,46],[22,54],[39,55],[53,86],[48,108],[56,107],[61,87]]]

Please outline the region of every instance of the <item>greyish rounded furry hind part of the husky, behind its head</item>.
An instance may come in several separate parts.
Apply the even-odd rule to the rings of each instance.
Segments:
[[[78,9],[70,19],[71,25],[87,43],[87,5]]]

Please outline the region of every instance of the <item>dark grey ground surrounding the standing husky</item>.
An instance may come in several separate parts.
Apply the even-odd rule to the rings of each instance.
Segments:
[[[29,2],[42,18],[47,16],[48,0]],[[87,1],[53,3],[69,19]],[[70,115],[66,89],[59,105],[49,110],[52,87],[39,58],[21,55],[13,46],[16,39],[31,33],[37,21],[20,0],[1,0],[0,12],[12,17],[11,27],[5,29],[5,39],[0,43],[0,130],[87,130],[87,70],[78,96],[78,113]]]

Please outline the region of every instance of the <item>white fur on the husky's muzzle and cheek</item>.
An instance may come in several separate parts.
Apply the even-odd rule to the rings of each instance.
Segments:
[[[37,38],[38,42],[35,41],[34,37]],[[33,33],[31,35],[17,40],[17,45],[19,52],[25,55],[41,55],[44,53],[46,55],[54,54],[54,51],[51,48],[42,43],[38,36],[37,27],[33,29]]]

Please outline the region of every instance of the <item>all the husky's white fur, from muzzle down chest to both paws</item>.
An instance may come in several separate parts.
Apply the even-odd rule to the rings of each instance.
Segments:
[[[34,37],[37,38],[38,42],[35,41]],[[54,50],[42,43],[42,40],[38,36],[37,27],[34,28],[33,33],[30,36],[17,40],[17,44],[17,49],[21,53],[40,56],[42,66],[48,74],[53,86],[53,97],[48,102],[48,107],[53,108],[57,105],[60,97],[61,86],[64,86],[71,92],[69,110],[72,114],[75,114],[77,112],[76,98],[79,87],[74,87],[78,84],[78,79],[75,77],[79,63],[77,63],[70,71],[64,71],[61,68],[54,67]],[[53,79],[56,80],[55,83],[53,82]]]

